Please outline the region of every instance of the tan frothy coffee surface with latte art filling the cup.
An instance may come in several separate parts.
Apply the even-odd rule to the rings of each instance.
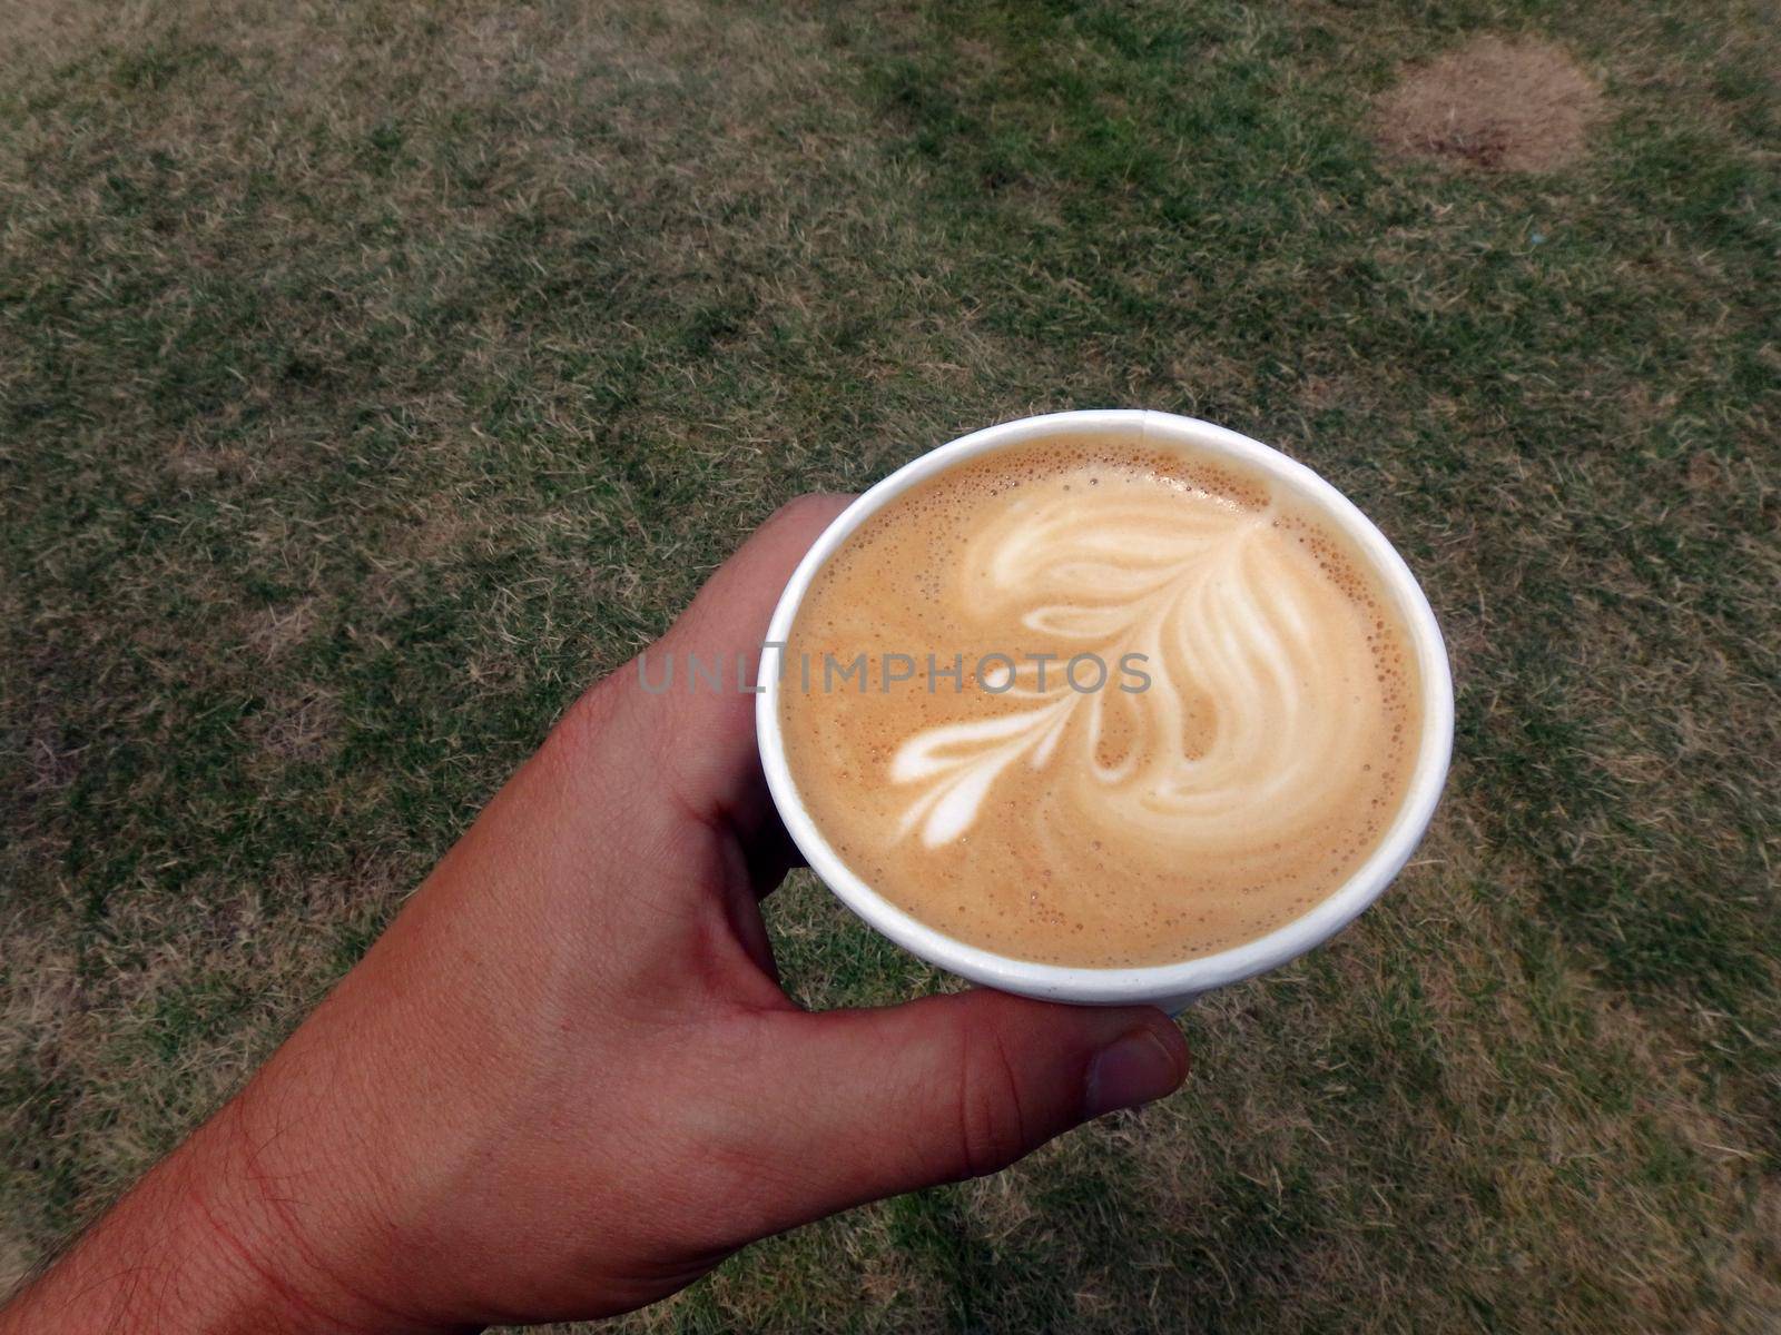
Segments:
[[[858,653],[864,689],[821,668],[800,689],[796,664]],[[1012,664],[974,671],[988,653]],[[930,680],[955,655],[962,691]],[[1044,682],[1031,655],[1054,655]],[[1078,689],[1092,666],[1072,685],[1078,655],[1101,689]],[[1188,959],[1302,915],[1378,844],[1416,755],[1409,637],[1352,545],[1261,473],[1124,440],[894,498],[817,573],[784,660],[787,762],[842,862],[1040,963]]]

